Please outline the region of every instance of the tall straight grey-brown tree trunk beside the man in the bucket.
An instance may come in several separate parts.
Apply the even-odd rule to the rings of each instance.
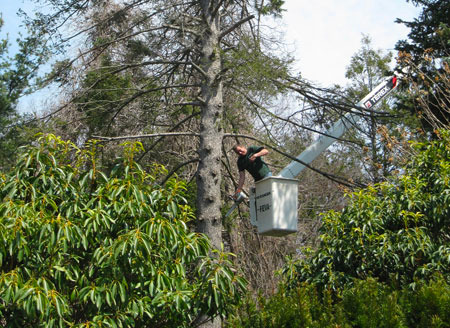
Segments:
[[[199,166],[197,171],[197,229],[211,239],[214,248],[222,243],[222,217],[220,212],[221,153],[223,129],[223,91],[219,74],[221,59],[219,51],[219,15],[213,10],[214,0],[201,0],[205,31],[202,33],[201,69],[202,83]],[[206,319],[202,316],[201,319]],[[202,327],[221,326],[221,320],[207,321]]]

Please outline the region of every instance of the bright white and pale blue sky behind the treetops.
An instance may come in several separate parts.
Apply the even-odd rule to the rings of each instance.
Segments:
[[[19,8],[30,12],[30,0],[0,0],[6,33],[14,40],[20,29]],[[345,85],[345,70],[361,47],[363,34],[376,49],[392,51],[409,29],[396,18],[413,20],[420,10],[406,0],[286,0],[279,28],[302,76],[321,86]],[[13,50],[13,48],[11,48]],[[26,106],[26,105],[20,105]]]

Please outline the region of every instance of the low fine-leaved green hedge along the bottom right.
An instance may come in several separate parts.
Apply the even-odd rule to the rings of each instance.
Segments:
[[[283,286],[271,297],[247,297],[235,309],[230,327],[295,328],[422,328],[450,326],[450,285],[441,278],[418,286],[417,291],[395,289],[374,279],[358,280],[353,287],[320,293],[302,283]]]

